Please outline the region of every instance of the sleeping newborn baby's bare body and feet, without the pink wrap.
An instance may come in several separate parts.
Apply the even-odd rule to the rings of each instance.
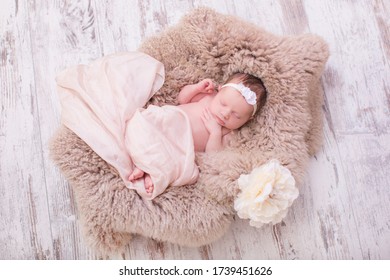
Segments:
[[[260,79],[237,73],[222,86],[211,79],[186,85],[178,95],[178,102],[191,123],[195,151],[215,152],[226,146],[232,130],[248,122],[257,107],[264,104],[265,89]],[[152,194],[150,175],[135,168],[129,180],[140,179],[144,180],[146,192]]]

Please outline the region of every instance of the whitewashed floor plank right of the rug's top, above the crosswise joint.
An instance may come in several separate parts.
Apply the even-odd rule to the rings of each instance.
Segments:
[[[310,26],[326,38],[331,48],[328,69],[332,73],[325,73],[324,78],[335,129],[342,133],[386,131],[390,119],[389,109],[383,107],[383,85],[388,84],[390,72],[377,25],[368,20],[375,18],[374,12],[367,6],[369,2],[337,3],[324,1],[310,6]],[[324,14],[329,14],[327,22]]]

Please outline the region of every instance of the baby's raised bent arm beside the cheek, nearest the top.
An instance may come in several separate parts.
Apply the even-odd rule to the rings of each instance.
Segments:
[[[187,104],[201,100],[206,95],[215,93],[216,89],[211,79],[204,79],[197,84],[186,85],[180,91],[177,99],[179,104]]]

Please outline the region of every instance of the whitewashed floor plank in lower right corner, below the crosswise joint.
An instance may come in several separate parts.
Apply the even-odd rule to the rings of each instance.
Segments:
[[[347,134],[339,143],[363,258],[389,259],[390,136]]]

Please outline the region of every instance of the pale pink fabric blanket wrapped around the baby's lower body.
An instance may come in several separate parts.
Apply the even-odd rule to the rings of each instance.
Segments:
[[[140,52],[105,56],[57,76],[62,122],[118,170],[130,189],[152,199],[168,186],[198,176],[188,117],[175,106],[142,109],[164,82],[164,66]],[[151,175],[152,196],[142,181],[127,180],[134,166]]]

